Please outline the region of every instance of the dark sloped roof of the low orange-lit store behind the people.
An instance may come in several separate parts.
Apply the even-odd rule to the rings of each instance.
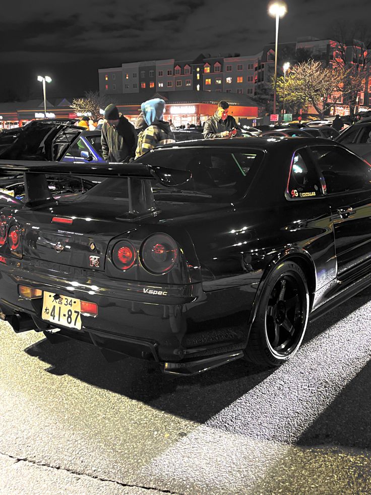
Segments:
[[[240,106],[262,106],[261,103],[246,96],[245,94],[237,93],[217,93],[215,91],[157,91],[153,92],[141,92],[141,93],[128,93],[114,95],[115,102],[118,106],[138,105],[140,106],[143,101],[152,98],[162,98],[166,104],[179,104],[179,103],[209,103],[218,104],[220,100],[227,101],[230,105]]]

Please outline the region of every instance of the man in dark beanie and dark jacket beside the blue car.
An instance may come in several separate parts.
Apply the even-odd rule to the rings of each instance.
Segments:
[[[102,155],[106,161],[126,162],[135,155],[137,133],[134,126],[123,115],[118,113],[117,107],[111,103],[104,109],[102,125]]]

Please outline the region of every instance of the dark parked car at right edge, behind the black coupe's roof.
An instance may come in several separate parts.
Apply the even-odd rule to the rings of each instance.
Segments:
[[[351,125],[335,141],[371,162],[371,119],[363,119]]]

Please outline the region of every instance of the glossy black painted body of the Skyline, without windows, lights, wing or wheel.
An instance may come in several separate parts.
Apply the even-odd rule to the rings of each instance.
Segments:
[[[293,200],[287,190],[292,156],[319,144],[341,147],[313,138],[236,138],[162,147],[264,153],[246,195],[235,203],[159,203],[154,214],[129,218],[109,198],[102,208],[88,194],[78,203],[22,208],[3,195],[0,204],[7,206],[2,213],[24,235],[22,258],[12,257],[6,245],[0,248],[3,317],[16,315],[20,329],[45,331],[51,341],[73,338],[105,353],[152,359],[165,371],[187,374],[242,357],[265,280],[283,260],[303,270],[312,318],[323,314],[371,284],[371,190]],[[171,163],[164,166],[171,168]],[[122,167],[125,175],[127,166]],[[118,172],[112,167],[107,174]],[[151,174],[143,167],[137,176],[149,179]],[[350,216],[337,213],[350,205]],[[54,215],[75,217],[73,227],[51,225]],[[157,232],[170,235],[179,247],[173,270],[156,276],[140,262],[126,272],[115,269],[110,253],[116,240],[130,240],[140,253],[143,241]],[[71,250],[56,255],[51,248],[58,240],[68,242]],[[89,267],[92,242],[101,256],[99,268]],[[83,316],[83,331],[49,333],[41,319],[41,299],[19,296],[20,283],[96,302],[98,316]]]

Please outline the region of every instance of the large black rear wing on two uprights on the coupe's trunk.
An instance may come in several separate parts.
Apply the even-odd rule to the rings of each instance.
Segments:
[[[128,179],[129,217],[150,215],[157,211],[153,197],[151,180],[165,186],[175,186],[187,182],[192,174],[189,171],[173,170],[165,167],[152,167],[146,163],[60,163],[58,161],[0,160],[0,176],[24,175],[25,205],[44,206],[56,203],[50,194],[46,175],[60,174],[77,177],[117,177]],[[1,185],[1,179],[0,179]]]

